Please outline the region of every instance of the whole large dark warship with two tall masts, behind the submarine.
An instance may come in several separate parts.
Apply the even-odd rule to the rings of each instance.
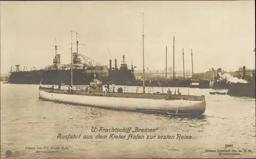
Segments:
[[[72,42],[71,42],[72,43]],[[72,43],[73,44],[73,43]],[[112,68],[112,60],[110,66],[101,65],[100,63],[90,59],[87,56],[78,54],[78,45],[76,34],[76,52],[72,53],[72,64],[61,64],[60,54],[57,54],[58,45],[55,38],[55,57],[53,63],[43,69],[26,71],[25,67],[20,70],[20,65],[15,65],[16,69],[10,71],[9,84],[46,84],[46,85],[71,85],[71,74],[74,76],[73,85],[89,85],[94,78],[100,80],[103,84],[114,83],[115,85],[135,85],[134,68],[127,67],[125,56],[122,57],[120,68],[117,67],[115,59],[115,67]],[[72,68],[72,69],[71,69]]]

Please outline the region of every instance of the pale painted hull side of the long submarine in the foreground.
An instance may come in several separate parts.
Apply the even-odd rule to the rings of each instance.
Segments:
[[[39,98],[56,102],[74,103],[107,109],[127,110],[135,112],[144,111],[157,114],[185,113],[201,115],[204,113],[206,108],[205,100],[191,101],[74,95],[49,93],[43,90],[39,90]]]

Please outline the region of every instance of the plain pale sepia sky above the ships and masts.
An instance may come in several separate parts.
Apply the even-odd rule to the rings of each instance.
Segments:
[[[37,69],[51,65],[55,38],[61,63],[70,63],[71,33],[78,33],[79,54],[109,65],[109,59],[142,70],[144,13],[145,69],[173,67],[194,72],[209,68],[255,68],[254,1],[1,1],[1,73],[20,65]],[[75,34],[73,35],[75,41]],[[109,54],[109,51],[110,54]],[[75,45],[73,49],[76,49]]]

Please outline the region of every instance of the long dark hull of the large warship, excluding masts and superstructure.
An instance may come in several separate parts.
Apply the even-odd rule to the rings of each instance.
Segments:
[[[95,76],[94,76],[95,75]],[[82,70],[73,69],[73,85],[89,85],[93,78],[102,84],[114,83],[115,85],[135,85],[136,80],[132,72],[120,70]],[[41,80],[45,85],[71,85],[71,70],[35,70],[11,72],[9,84],[38,85]]]

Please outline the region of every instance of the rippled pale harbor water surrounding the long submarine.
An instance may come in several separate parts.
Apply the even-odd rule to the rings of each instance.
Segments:
[[[164,88],[165,93],[167,89]],[[170,90],[174,92],[174,88]],[[128,91],[136,92],[136,87],[129,87]],[[162,88],[151,89],[151,92],[158,91],[162,92]],[[207,105],[202,119],[121,112],[43,101],[38,98],[38,85],[1,82],[1,158],[6,156],[7,150],[12,152],[14,158],[256,157],[255,98],[210,95],[209,92],[214,91],[211,89],[180,88],[181,94],[188,94],[188,91],[190,95],[205,95]],[[132,133],[155,135],[156,138],[110,139],[111,134],[126,137],[129,134],[92,132],[92,127],[132,127],[133,130],[135,127],[156,128],[151,133]],[[81,134],[89,137],[57,139],[59,134]],[[94,138],[99,134],[108,138]],[[191,136],[191,139],[178,140],[177,134]],[[175,139],[158,138],[167,135],[175,136]],[[91,139],[90,136],[94,137]],[[56,153],[41,152],[42,150],[37,150],[39,147],[42,150],[47,150],[47,147],[52,150],[56,148]],[[232,152],[220,154],[220,150]]]

